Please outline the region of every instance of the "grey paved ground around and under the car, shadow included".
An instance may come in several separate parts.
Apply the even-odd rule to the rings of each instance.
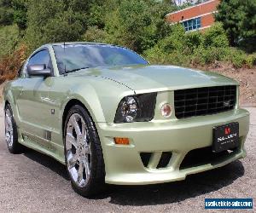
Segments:
[[[247,158],[185,181],[143,187],[109,187],[96,199],[74,193],[63,165],[28,150],[12,155],[3,137],[0,105],[1,212],[201,212],[205,198],[256,199],[256,108],[251,112]]]

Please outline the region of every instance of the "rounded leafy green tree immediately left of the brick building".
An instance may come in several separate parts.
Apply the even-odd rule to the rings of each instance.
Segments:
[[[117,43],[143,53],[165,37],[169,26],[165,14],[173,7],[151,0],[124,0],[108,13],[105,30],[109,43]]]

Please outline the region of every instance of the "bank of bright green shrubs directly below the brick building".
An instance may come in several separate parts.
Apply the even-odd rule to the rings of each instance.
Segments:
[[[229,47],[219,23],[204,33],[185,33],[183,26],[174,25],[172,33],[161,39],[154,48],[146,50],[144,55],[154,63],[180,66],[204,66],[217,61],[230,62],[236,68],[256,64],[256,54],[247,55],[241,49]]]

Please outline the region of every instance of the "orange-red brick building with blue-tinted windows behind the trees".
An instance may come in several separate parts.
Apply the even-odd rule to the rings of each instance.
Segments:
[[[219,0],[211,0],[195,6],[166,14],[166,21],[182,23],[186,32],[203,30],[214,23],[213,14],[217,12]]]

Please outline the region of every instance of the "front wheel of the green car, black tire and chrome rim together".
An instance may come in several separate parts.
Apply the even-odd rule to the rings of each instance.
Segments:
[[[96,126],[79,105],[67,113],[64,125],[67,172],[76,193],[91,197],[105,189],[105,167]]]

